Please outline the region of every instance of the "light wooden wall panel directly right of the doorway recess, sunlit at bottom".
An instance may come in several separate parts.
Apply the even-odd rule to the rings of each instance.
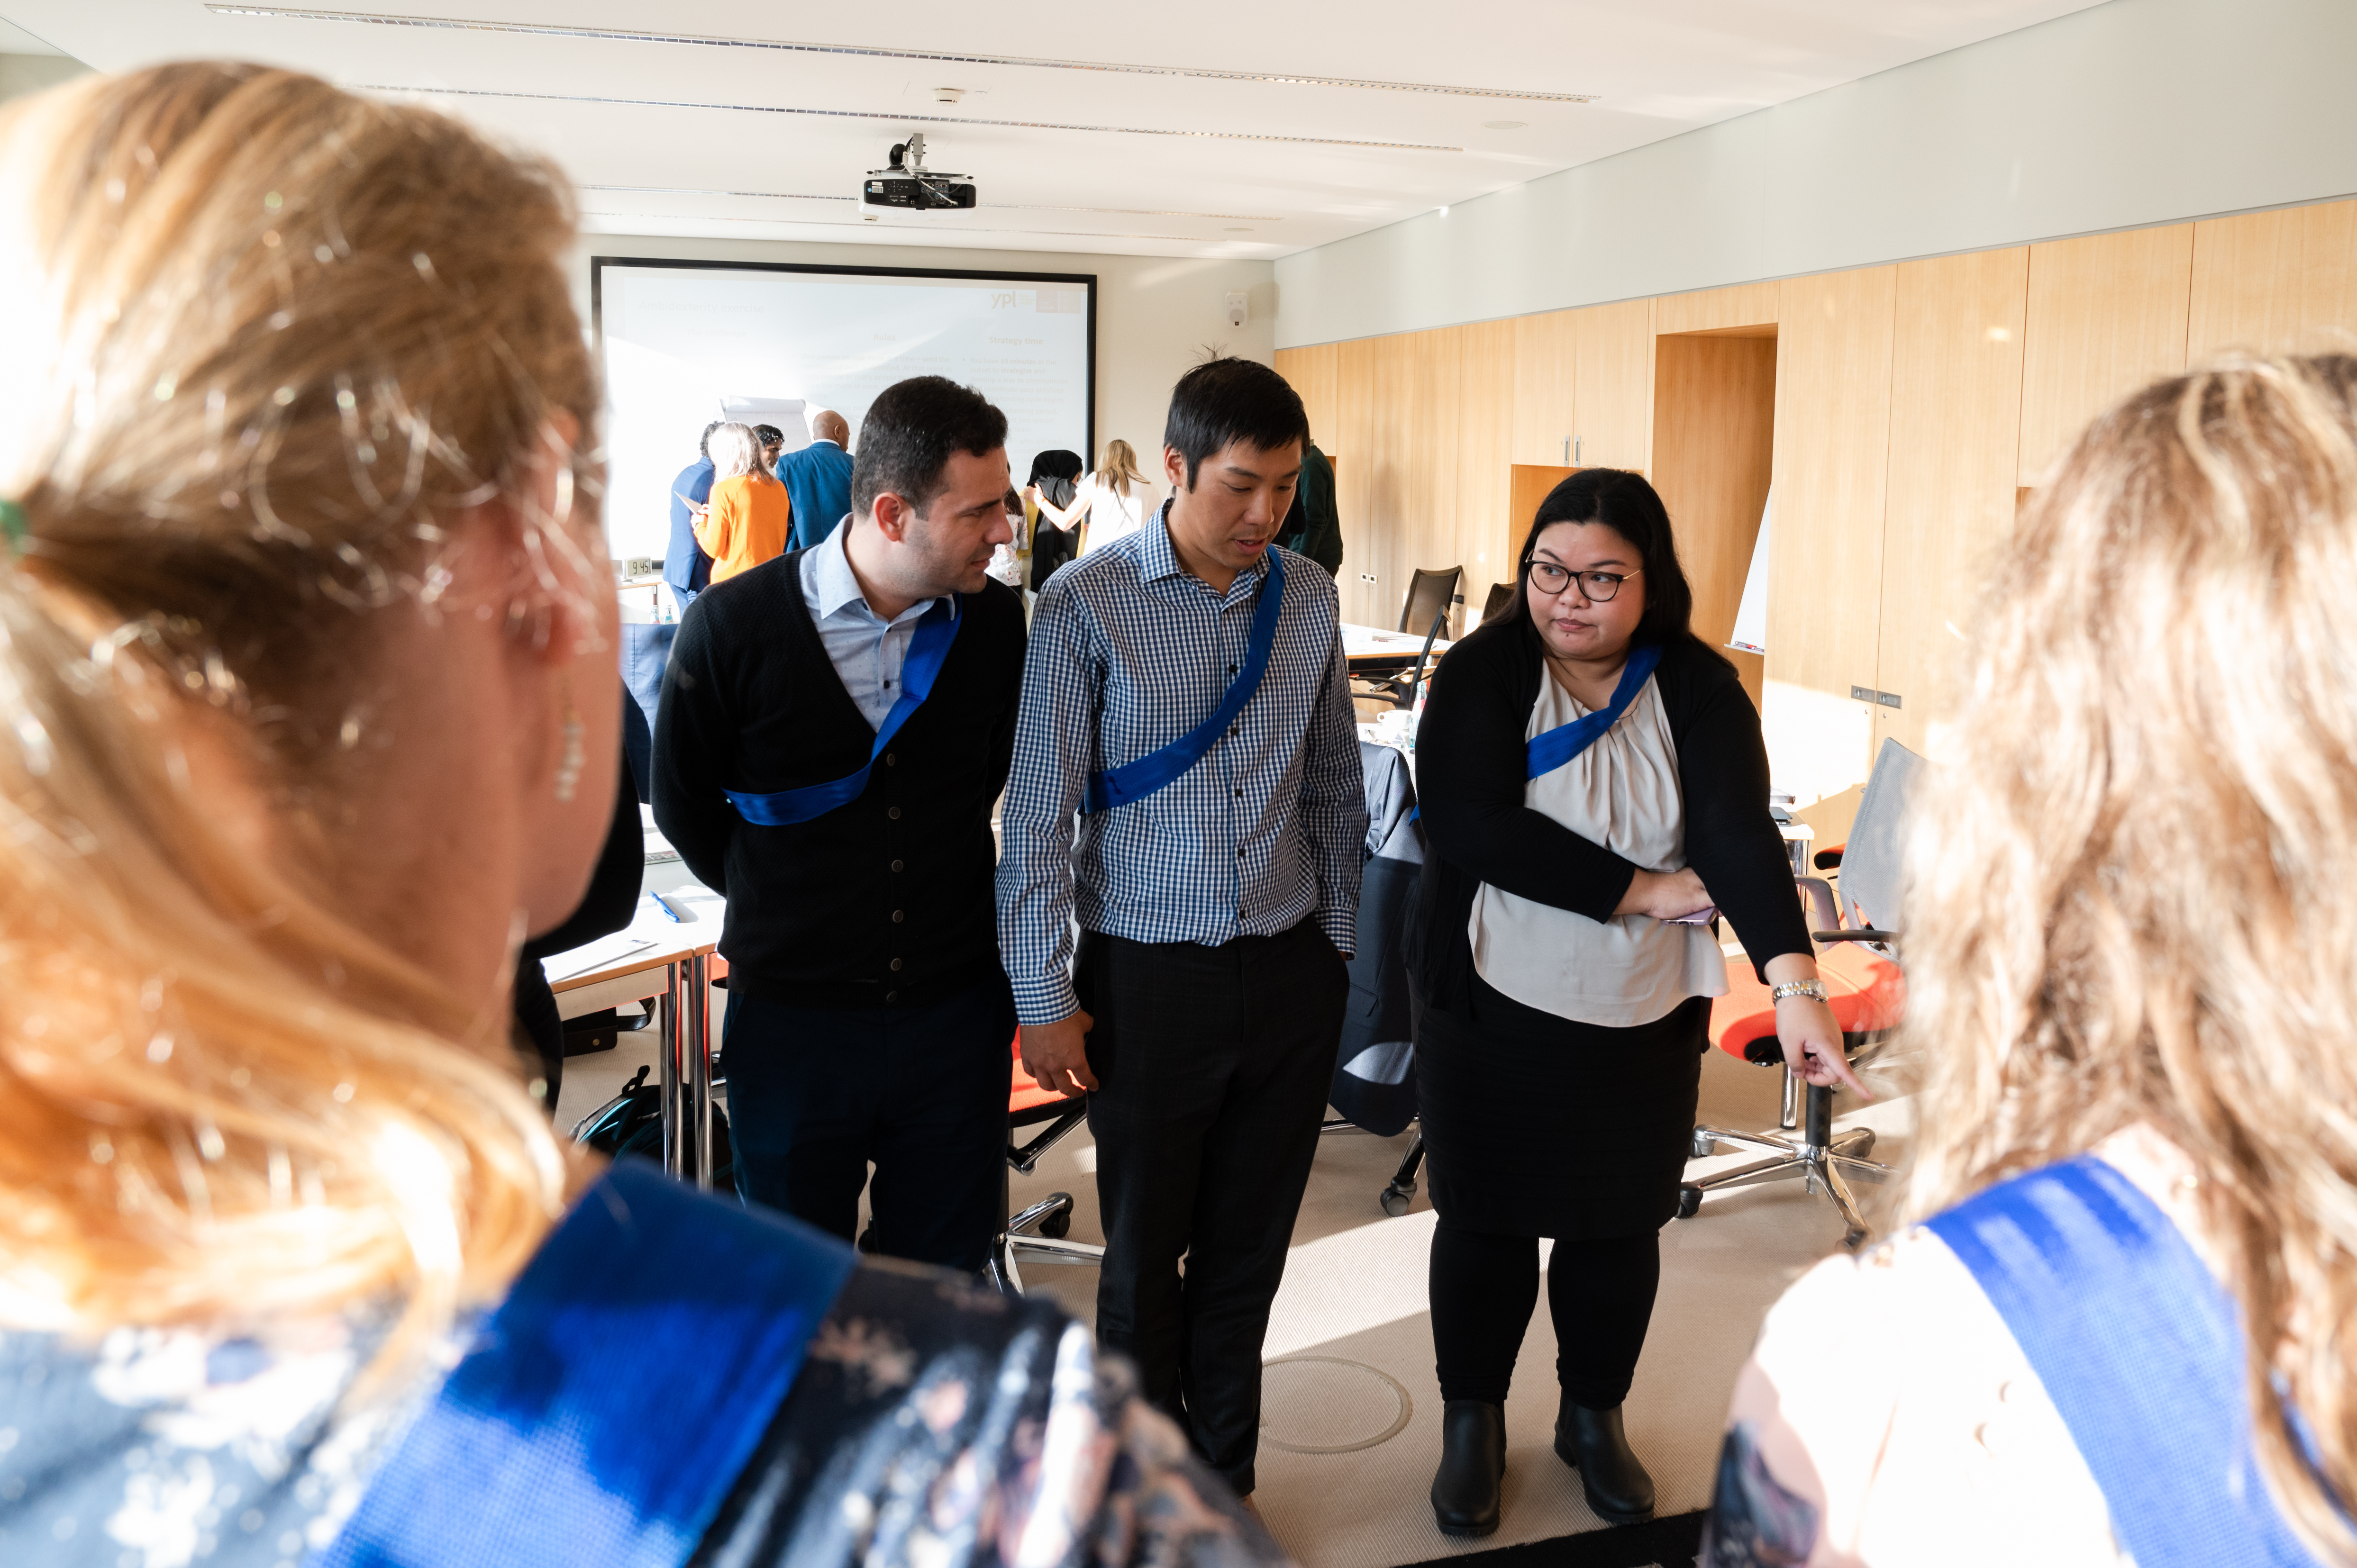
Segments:
[[[1871,705],[1850,686],[1874,686],[1881,641],[1895,299],[1895,266],[1782,285],[1761,717],[1777,788],[1803,806],[1871,762]]]

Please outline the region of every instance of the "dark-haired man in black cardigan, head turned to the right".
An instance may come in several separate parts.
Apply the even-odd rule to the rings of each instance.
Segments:
[[[1014,1000],[990,806],[1023,604],[1006,415],[938,375],[860,424],[851,523],[679,622],[655,823],[728,898],[738,1191],[851,1238],[874,1162],[891,1257],[981,1269],[999,1224]]]

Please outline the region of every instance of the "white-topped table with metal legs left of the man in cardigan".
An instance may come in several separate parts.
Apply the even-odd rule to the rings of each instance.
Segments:
[[[676,863],[676,856],[669,858]],[[563,1019],[655,1000],[662,1170],[709,1188],[712,981],[728,971],[728,960],[719,955],[726,905],[695,882],[667,887],[660,898],[639,894],[627,927],[540,964]]]

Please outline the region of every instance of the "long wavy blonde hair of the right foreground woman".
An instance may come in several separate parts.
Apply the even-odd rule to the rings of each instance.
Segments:
[[[1930,1214],[2150,1125],[2201,1174],[2275,1495],[2357,1561],[2357,361],[2102,415],[1968,620],[1916,813]],[[2296,1408],[2315,1464],[2286,1422]]]

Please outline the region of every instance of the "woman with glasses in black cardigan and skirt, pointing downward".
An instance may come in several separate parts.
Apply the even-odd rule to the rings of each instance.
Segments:
[[[1622,1401],[1662,1278],[1725,915],[1777,988],[1784,1056],[1857,1080],[1768,816],[1758,712],[1688,625],[1662,498],[1589,469],[1539,505],[1520,592],[1433,677],[1412,971],[1431,1151],[1450,1535],[1499,1523],[1506,1384],[1546,1269],[1556,1455],[1612,1523],[1652,1514]]]

